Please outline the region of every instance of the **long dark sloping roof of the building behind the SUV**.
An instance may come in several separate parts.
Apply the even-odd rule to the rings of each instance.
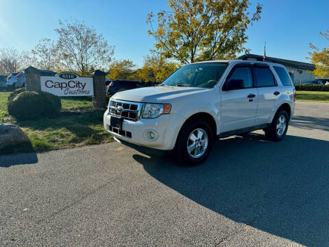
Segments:
[[[239,57],[239,59],[241,60],[248,60],[248,58],[254,58],[257,61],[263,61],[263,56],[255,55],[255,54],[245,54]],[[296,69],[307,69],[310,71],[315,70],[315,64],[310,64],[308,62],[298,62],[298,61],[286,60],[282,58],[272,58],[268,56],[266,57],[266,62],[276,62],[279,64],[283,64],[284,66],[289,66]]]

